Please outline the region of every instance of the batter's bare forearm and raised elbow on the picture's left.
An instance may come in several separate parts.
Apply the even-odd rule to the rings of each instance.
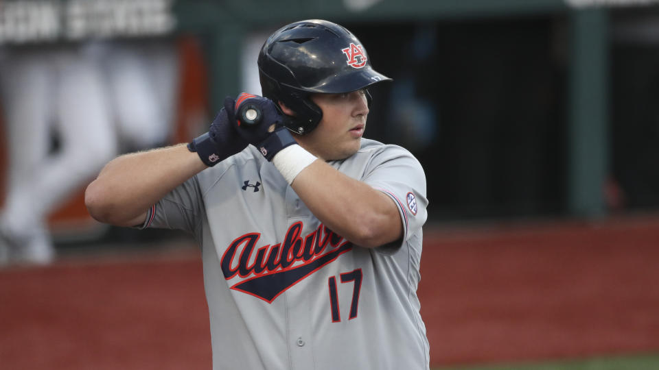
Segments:
[[[126,154],[106,164],[87,186],[85,204],[98,221],[135,225],[153,204],[206,168],[185,145]]]

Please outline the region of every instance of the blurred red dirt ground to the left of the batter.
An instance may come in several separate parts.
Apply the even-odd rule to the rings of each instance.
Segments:
[[[0,369],[211,368],[194,251],[0,271],[0,301]]]

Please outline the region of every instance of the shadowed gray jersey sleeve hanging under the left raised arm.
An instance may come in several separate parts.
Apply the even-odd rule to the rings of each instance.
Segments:
[[[194,234],[202,214],[200,193],[197,177],[194,176],[154,204],[140,228],[183,230]]]

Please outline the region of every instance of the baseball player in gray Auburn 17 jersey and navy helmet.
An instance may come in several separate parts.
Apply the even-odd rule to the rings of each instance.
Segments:
[[[258,65],[264,97],[227,98],[187,145],[115,158],[90,213],[196,238],[213,369],[428,369],[424,171],[362,138],[367,87],[389,78],[320,20],[272,34]]]

